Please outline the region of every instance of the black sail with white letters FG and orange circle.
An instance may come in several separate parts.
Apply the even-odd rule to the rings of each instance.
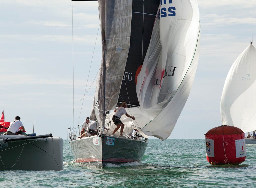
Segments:
[[[137,74],[150,43],[159,0],[133,1],[130,50],[124,70],[118,105],[125,101],[128,107],[139,107],[136,82]]]

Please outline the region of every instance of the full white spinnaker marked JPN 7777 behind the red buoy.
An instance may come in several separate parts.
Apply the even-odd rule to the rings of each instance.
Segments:
[[[252,43],[231,66],[221,95],[220,112],[223,125],[244,132],[256,128],[256,49]]]

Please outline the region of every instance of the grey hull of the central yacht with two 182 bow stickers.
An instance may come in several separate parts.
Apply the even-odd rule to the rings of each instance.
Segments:
[[[141,162],[147,142],[114,136],[92,136],[72,140],[70,146],[76,162],[99,162],[98,166],[105,167],[107,163]]]

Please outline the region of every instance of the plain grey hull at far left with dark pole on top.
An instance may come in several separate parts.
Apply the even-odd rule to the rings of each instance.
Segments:
[[[0,170],[63,170],[63,140],[48,137],[3,142],[24,138],[0,135]]]

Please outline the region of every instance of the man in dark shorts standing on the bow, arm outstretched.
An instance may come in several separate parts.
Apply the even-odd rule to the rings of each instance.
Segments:
[[[120,130],[120,137],[125,138],[125,136],[123,135],[123,130],[124,130],[124,124],[123,122],[120,120],[121,116],[123,114],[125,114],[127,117],[131,117],[133,120],[135,120],[135,117],[127,114],[125,108],[127,108],[127,104],[126,102],[123,102],[120,107],[118,107],[117,109],[114,110],[114,115],[113,115],[113,122],[116,125],[116,128],[114,129],[113,133],[111,136],[114,136],[115,132],[120,128],[121,125],[121,130]]]

